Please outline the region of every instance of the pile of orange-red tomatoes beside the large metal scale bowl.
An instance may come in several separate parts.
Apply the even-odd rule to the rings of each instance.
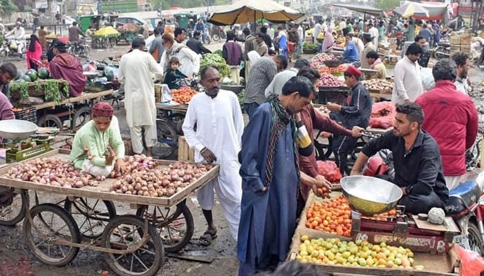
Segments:
[[[351,208],[342,195],[313,202],[306,213],[306,227],[344,237],[351,236]]]

